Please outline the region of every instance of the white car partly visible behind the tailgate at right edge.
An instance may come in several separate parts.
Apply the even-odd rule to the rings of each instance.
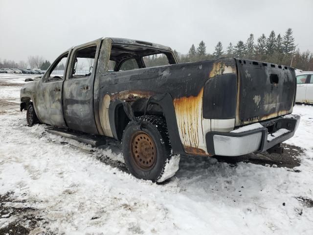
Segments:
[[[313,103],[313,71],[302,71],[297,74],[296,102]]]

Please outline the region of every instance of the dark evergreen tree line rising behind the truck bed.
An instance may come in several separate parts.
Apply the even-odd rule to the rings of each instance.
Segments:
[[[212,60],[223,57],[239,57],[250,60],[266,61],[269,63],[290,66],[305,71],[313,70],[313,53],[309,50],[300,52],[296,49],[295,39],[291,28],[288,28],[283,36],[272,30],[268,37],[263,33],[256,42],[251,33],[246,42],[240,40],[236,44],[230,42],[224,49],[222,42],[218,42],[212,54],[206,52],[206,45],[201,41],[196,48],[193,44],[188,54],[180,54],[174,50],[180,63]],[[158,66],[166,61],[166,56],[150,56],[150,66]]]

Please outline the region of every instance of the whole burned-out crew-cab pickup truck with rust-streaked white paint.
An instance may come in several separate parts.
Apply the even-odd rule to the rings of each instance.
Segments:
[[[164,63],[149,68],[152,57]],[[295,92],[291,67],[237,58],[178,64],[170,47],[101,38],[68,49],[25,84],[21,111],[29,126],[122,141],[129,171],[160,182],[178,170],[179,155],[280,150],[299,123]]]

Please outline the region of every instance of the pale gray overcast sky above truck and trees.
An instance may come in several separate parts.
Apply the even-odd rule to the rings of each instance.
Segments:
[[[187,53],[203,40],[255,41],[271,30],[293,29],[301,51],[313,51],[312,0],[0,0],[0,59],[42,55],[52,62],[67,48],[94,39],[123,37]]]

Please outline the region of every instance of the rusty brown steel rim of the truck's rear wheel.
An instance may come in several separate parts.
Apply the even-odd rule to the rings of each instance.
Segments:
[[[134,163],[141,169],[148,170],[156,163],[156,145],[145,132],[137,132],[133,135],[131,154]]]

